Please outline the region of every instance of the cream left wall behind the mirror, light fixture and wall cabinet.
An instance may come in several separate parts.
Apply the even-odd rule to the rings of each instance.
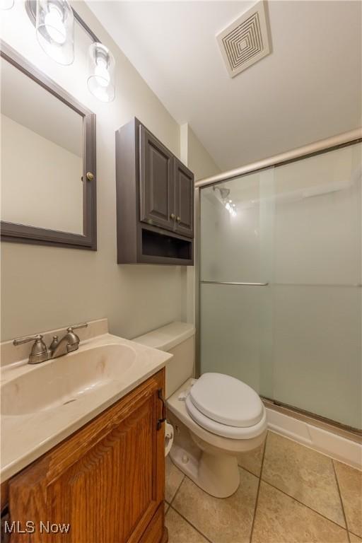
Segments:
[[[113,103],[100,103],[88,93],[90,40],[78,25],[71,66],[59,66],[42,52],[21,2],[1,13],[0,34],[97,115],[98,251],[2,243],[2,340],[98,317],[109,318],[111,332],[135,337],[186,317],[185,268],[116,264],[115,130],[136,116],[179,155],[180,127],[86,4],[74,7],[115,55]]]

